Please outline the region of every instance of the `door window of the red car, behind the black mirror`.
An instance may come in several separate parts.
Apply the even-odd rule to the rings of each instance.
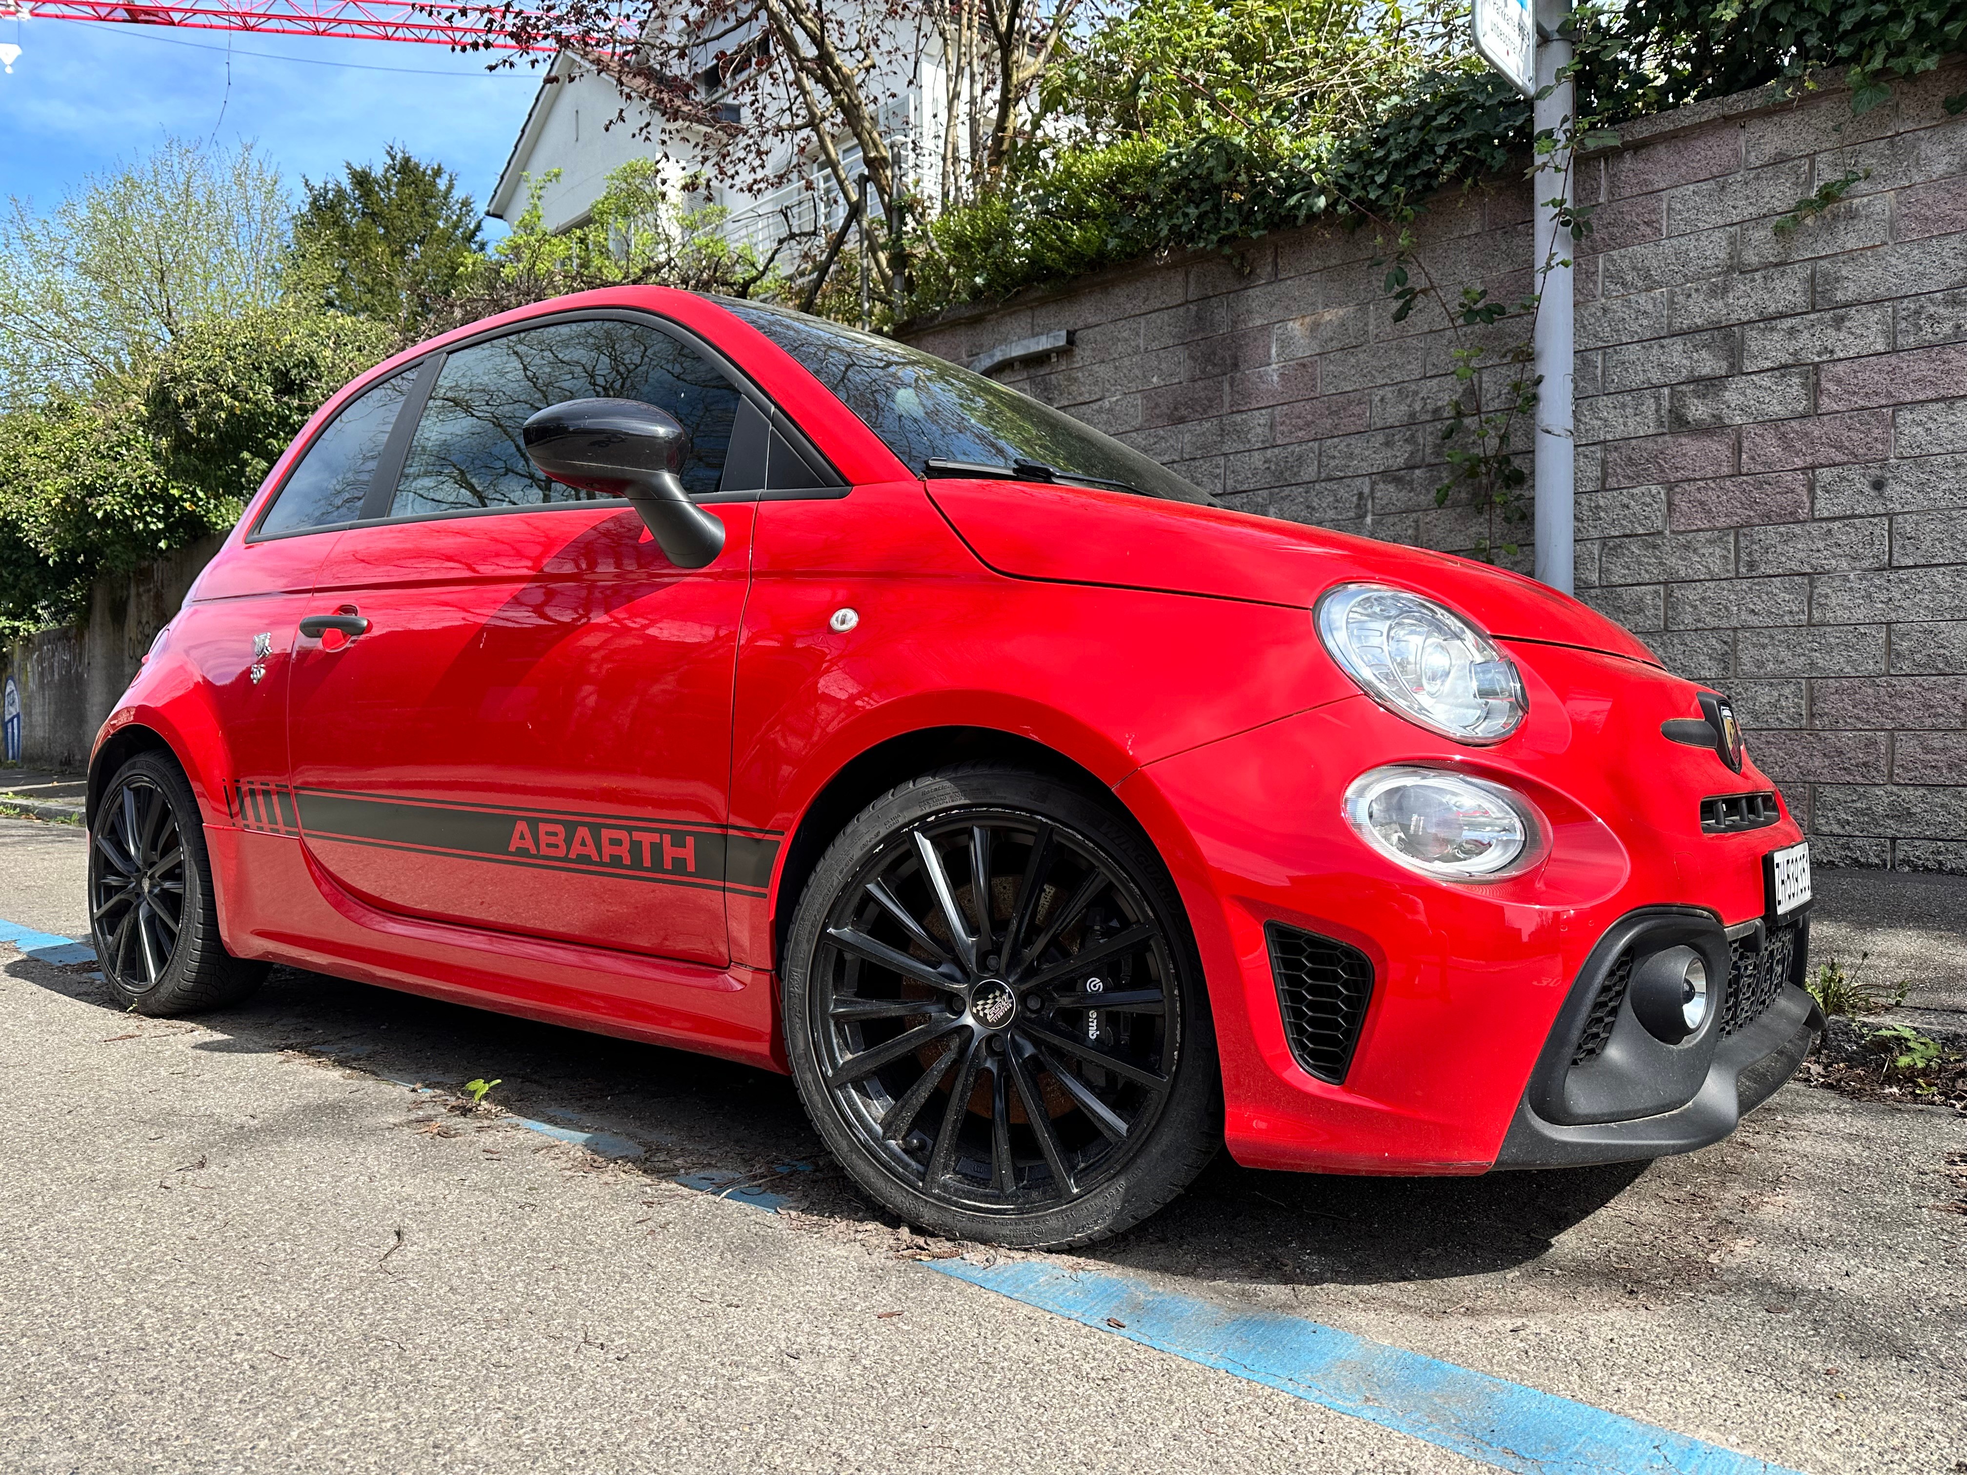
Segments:
[[[535,474],[525,458],[519,427],[565,399],[641,399],[667,409],[690,433],[683,486],[694,496],[718,490],[738,389],[667,332],[596,319],[549,323],[450,354],[409,442],[389,515],[592,500]]]

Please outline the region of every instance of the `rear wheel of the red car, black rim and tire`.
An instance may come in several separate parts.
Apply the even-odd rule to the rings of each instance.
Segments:
[[[199,800],[163,753],[138,753],[102,791],[89,830],[89,914],[102,981],[140,1015],[238,1003],[268,966],[218,940]]]

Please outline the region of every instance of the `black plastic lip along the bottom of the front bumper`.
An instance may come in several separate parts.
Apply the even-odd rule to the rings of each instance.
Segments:
[[[1631,1121],[1560,1125],[1538,1117],[1524,1097],[1495,1166],[1581,1168],[1719,1143],[1796,1074],[1821,1032],[1818,1001],[1790,983],[1753,1025],[1721,1040],[1701,1090],[1686,1105]]]

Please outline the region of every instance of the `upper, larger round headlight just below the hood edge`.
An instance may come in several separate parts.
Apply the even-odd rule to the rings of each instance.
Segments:
[[[1381,706],[1461,743],[1509,738],[1530,704],[1517,663],[1454,610],[1387,584],[1340,584],[1318,637]]]

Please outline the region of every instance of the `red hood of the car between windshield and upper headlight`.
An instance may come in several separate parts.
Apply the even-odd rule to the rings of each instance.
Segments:
[[[1310,608],[1334,584],[1426,594],[1499,639],[1660,659],[1623,625],[1522,574],[1448,553],[1253,517],[1227,507],[1043,482],[928,482],[985,564],[1015,578]]]

